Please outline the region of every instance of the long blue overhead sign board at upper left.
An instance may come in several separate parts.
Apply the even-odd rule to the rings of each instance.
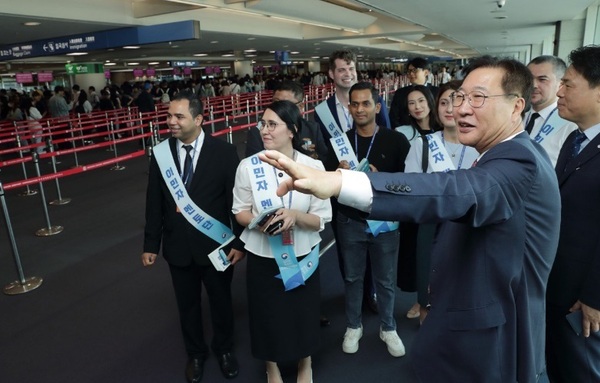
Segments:
[[[128,27],[0,47],[0,61],[200,38],[198,20]]]

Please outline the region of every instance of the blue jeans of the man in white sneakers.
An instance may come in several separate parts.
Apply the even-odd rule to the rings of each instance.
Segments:
[[[367,266],[367,253],[371,269],[377,306],[383,331],[396,329],[394,299],[398,266],[398,230],[381,233],[377,237],[366,233],[367,224],[337,213],[338,240],[344,258],[344,285],[346,288],[346,322],[349,328],[359,328],[362,318],[363,280]]]

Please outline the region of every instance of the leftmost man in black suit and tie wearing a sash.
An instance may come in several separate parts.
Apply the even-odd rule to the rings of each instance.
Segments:
[[[244,256],[243,244],[238,239],[242,228],[231,214],[232,190],[239,163],[237,152],[232,145],[202,131],[202,110],[202,102],[189,91],[178,93],[169,105],[167,124],[172,137],[155,147],[150,163],[142,254],[144,266],[153,265],[162,241],[162,253],[169,264],[189,356],[186,377],[193,383],[202,379],[204,360],[209,355],[202,329],[202,285],[206,288],[211,309],[214,332],[211,349],[226,378],[238,374],[238,363],[233,355],[233,267],[217,271],[211,264],[208,254],[220,243],[211,239],[215,236],[209,236],[210,230],[215,227],[224,228],[221,232],[233,229],[237,238],[224,246],[224,254],[231,264]],[[160,148],[161,145],[166,146]],[[165,156],[160,155],[165,152]],[[169,168],[169,165],[172,166]],[[173,169],[171,173],[170,169]],[[191,200],[185,205],[181,201],[187,196],[180,197],[173,192],[174,185],[178,184],[185,184],[185,189],[178,190],[181,193],[187,190]],[[174,196],[177,196],[177,202]],[[190,218],[191,208],[197,212],[193,218]]]

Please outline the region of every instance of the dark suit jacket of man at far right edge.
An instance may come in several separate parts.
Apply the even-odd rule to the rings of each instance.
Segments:
[[[565,314],[577,300],[600,310],[600,134],[571,160],[574,138],[556,162],[562,220],[548,282],[548,303]]]

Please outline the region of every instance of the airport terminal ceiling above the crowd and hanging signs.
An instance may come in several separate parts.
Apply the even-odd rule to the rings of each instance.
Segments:
[[[0,74],[64,72],[68,62],[110,64],[111,70],[148,65],[160,68],[173,60],[195,61],[199,66],[227,66],[238,60],[271,65],[275,64],[274,51],[287,52],[289,61],[301,63],[324,61],[331,51],[340,48],[356,51],[359,61],[379,64],[414,56],[437,60],[468,59],[480,54],[523,58],[532,46],[553,41],[558,21],[583,19],[592,5],[597,1],[11,2],[0,13]],[[26,52],[40,40],[73,37],[67,41],[77,42],[81,36],[182,21],[198,23],[197,38],[162,41],[164,38],[156,36],[154,42],[146,39],[136,49],[78,48],[69,55],[51,55],[46,49],[33,57]]]

